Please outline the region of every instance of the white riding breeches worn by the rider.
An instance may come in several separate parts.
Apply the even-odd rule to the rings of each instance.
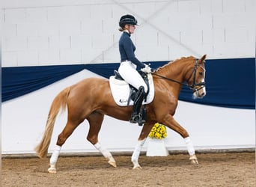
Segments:
[[[147,93],[147,85],[136,70],[136,65],[131,61],[121,62],[118,72],[123,79],[138,90],[139,87],[144,87],[144,92]]]

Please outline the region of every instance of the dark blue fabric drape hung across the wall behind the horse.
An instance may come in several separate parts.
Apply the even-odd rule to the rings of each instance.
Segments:
[[[168,61],[150,62],[157,68]],[[179,99],[204,105],[230,108],[255,108],[255,58],[214,59],[206,61],[207,96],[192,99],[192,91],[183,86]],[[87,69],[109,78],[119,63],[79,64],[43,67],[2,68],[2,101],[22,96],[60,79]]]

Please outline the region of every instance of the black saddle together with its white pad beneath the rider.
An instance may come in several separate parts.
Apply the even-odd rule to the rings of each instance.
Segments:
[[[138,90],[125,82],[117,70],[115,70],[114,73],[115,76],[110,76],[109,78],[109,84],[115,102],[121,106],[133,105],[133,100],[135,99],[135,94]],[[148,88],[142,105],[148,104],[153,100],[154,96],[153,78],[151,74],[142,71],[138,71],[138,73],[144,79]]]

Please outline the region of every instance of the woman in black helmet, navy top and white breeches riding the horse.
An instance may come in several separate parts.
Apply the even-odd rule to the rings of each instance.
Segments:
[[[141,78],[136,68],[138,67],[144,73],[150,73],[151,69],[147,64],[138,61],[138,59],[135,57],[135,46],[130,39],[130,35],[134,33],[135,25],[138,25],[138,22],[134,16],[129,14],[121,16],[119,21],[119,31],[122,31],[123,34],[119,40],[121,65],[118,68],[118,72],[126,82],[138,90],[135,95],[132,116],[129,122],[141,124],[144,123],[144,120],[142,120],[140,110],[144,96],[147,93],[147,85]]]

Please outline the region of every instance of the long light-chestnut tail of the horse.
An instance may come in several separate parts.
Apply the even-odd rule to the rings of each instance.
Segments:
[[[63,91],[58,93],[55,99],[52,101],[51,108],[49,110],[46,128],[43,133],[43,138],[40,143],[35,147],[35,151],[39,158],[45,158],[48,153],[49,144],[52,138],[53,126],[55,124],[56,116],[60,109],[65,110],[67,105],[67,96],[70,93],[70,87],[65,88]]]

